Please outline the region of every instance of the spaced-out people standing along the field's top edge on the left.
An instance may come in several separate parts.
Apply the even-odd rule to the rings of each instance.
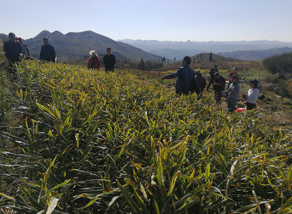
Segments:
[[[13,63],[20,62],[23,58],[30,59],[28,48],[23,44],[22,39],[17,38],[15,33],[10,32],[8,34],[9,41],[4,43],[5,56],[9,62],[10,67],[13,67]],[[49,44],[49,39],[47,37],[43,38],[44,45],[40,48],[39,60],[46,62],[56,61],[56,51],[54,46]],[[105,65],[106,72],[114,71],[114,64],[116,63],[115,56],[111,54],[111,48],[106,49],[106,55],[103,57],[103,62]],[[91,56],[88,60],[88,69],[98,69],[101,66],[100,59],[96,51],[90,52]]]

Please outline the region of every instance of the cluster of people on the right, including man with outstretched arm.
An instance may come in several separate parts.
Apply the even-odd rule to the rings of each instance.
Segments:
[[[188,95],[189,93],[197,93],[200,97],[202,92],[206,87],[206,79],[202,76],[200,70],[194,72],[194,70],[189,66],[191,63],[191,58],[185,56],[182,60],[182,65],[179,67],[177,72],[161,77],[161,81],[165,79],[174,79],[176,81],[176,93],[179,95]],[[226,80],[219,74],[217,65],[210,69],[209,74],[211,75],[210,82],[206,88],[209,90],[211,85],[213,85],[213,90],[215,94],[215,100],[218,104],[221,103],[222,96],[226,97],[228,111],[234,112],[236,110],[237,98],[239,97],[241,80],[239,74],[237,73],[237,67],[234,67],[232,72],[229,74],[229,81],[225,89]],[[248,90],[247,94],[242,95],[242,98],[246,99],[246,110],[252,110],[257,107],[256,101],[259,96],[258,89],[259,81],[254,79],[249,81],[251,89]]]

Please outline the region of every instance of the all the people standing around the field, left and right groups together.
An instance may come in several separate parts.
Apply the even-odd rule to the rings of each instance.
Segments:
[[[54,46],[49,44],[49,39],[47,37],[43,38],[44,45],[41,46],[39,60],[55,62],[56,61],[56,52]],[[17,38],[15,33],[9,33],[9,41],[4,43],[4,51],[6,58],[10,66],[12,67],[13,63],[20,62],[23,58],[30,58],[28,48],[23,44],[21,38]],[[103,56],[103,62],[106,72],[114,72],[114,64],[116,63],[115,56],[111,54],[111,48],[106,49],[106,55]],[[88,69],[97,69],[99,70],[101,66],[100,59],[98,57],[97,51],[90,51],[91,57],[88,60],[87,68]],[[190,67],[191,58],[185,56],[182,60],[182,65],[179,67],[176,73],[163,76],[161,81],[164,79],[173,79],[177,78],[176,81],[176,93],[179,95],[188,95],[189,93],[196,93],[202,97],[202,92],[206,87],[206,79],[202,76],[200,70],[194,72]],[[229,74],[229,81],[227,88],[225,90],[226,80],[219,74],[217,65],[214,65],[214,68],[210,69],[209,74],[211,75],[211,80],[206,88],[206,91],[209,90],[210,86],[213,85],[215,100],[218,104],[221,103],[221,98],[223,93],[226,96],[228,111],[234,112],[236,110],[236,102],[240,92],[240,76],[237,74],[237,67],[234,67],[232,72]],[[243,95],[243,98],[246,98],[246,110],[252,110],[256,108],[256,101],[259,96],[258,83],[256,79],[250,81],[251,89],[248,90],[246,95]]]

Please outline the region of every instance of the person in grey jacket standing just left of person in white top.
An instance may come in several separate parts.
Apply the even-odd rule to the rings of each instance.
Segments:
[[[228,93],[227,105],[229,112],[235,112],[236,110],[236,102],[240,92],[240,86],[238,84],[239,78],[237,75],[232,75],[231,77],[231,84],[229,89],[223,91],[223,93]]]

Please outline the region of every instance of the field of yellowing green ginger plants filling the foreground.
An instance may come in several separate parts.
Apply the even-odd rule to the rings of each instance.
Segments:
[[[4,213],[292,213],[291,135],[262,114],[118,70],[24,61],[17,75]]]

